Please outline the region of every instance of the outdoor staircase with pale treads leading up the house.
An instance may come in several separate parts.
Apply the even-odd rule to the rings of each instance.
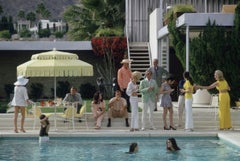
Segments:
[[[150,67],[150,55],[148,42],[130,42],[129,43],[129,59],[132,59],[131,70],[145,73]]]

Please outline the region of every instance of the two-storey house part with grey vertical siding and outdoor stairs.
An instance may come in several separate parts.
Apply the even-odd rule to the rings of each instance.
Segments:
[[[232,26],[233,14],[222,13],[222,10],[224,5],[237,2],[237,0],[126,0],[126,36],[129,41],[128,54],[130,59],[134,60],[132,70],[144,71],[151,65],[149,60],[158,58],[160,65],[171,73],[182,73],[174,71],[181,66],[170,52],[167,26],[163,24],[168,8],[176,4],[191,4],[196,9],[196,13],[184,14],[178,19],[178,27],[188,26],[186,33],[189,34],[190,25],[203,27],[208,19],[216,20],[219,25]],[[186,25],[187,23],[189,25]]]

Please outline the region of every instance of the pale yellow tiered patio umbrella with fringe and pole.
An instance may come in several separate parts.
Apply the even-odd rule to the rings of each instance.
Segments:
[[[56,77],[93,76],[93,66],[79,60],[76,54],[53,49],[32,55],[30,61],[17,66],[17,75],[54,77],[54,99],[56,99]],[[56,129],[56,106],[54,122]]]

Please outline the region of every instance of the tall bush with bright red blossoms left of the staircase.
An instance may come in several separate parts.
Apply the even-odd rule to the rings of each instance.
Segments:
[[[127,51],[127,40],[125,37],[94,37],[92,38],[93,52],[102,58],[96,63],[99,75],[103,78],[105,99],[112,97],[112,80],[116,78],[117,69]],[[99,89],[100,90],[100,89]]]

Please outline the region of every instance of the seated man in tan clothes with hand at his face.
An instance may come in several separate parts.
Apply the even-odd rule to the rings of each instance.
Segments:
[[[111,98],[108,104],[108,124],[107,127],[111,127],[112,118],[125,118],[126,127],[129,127],[127,101],[121,97],[121,91],[115,92],[115,97]]]

